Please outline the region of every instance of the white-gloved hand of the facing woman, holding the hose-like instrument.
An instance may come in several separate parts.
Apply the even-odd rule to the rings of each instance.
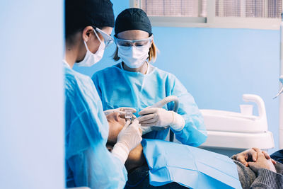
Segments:
[[[137,119],[141,127],[166,127],[170,125],[176,131],[183,130],[185,127],[185,120],[181,115],[163,108],[144,108],[139,112],[139,115],[141,116]]]

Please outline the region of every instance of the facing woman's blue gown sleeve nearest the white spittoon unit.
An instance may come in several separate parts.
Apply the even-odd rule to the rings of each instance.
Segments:
[[[173,130],[175,137],[183,144],[198,147],[207,139],[202,113],[200,113],[194,98],[187,92],[185,86],[177,78],[171,79],[171,81],[174,81],[171,95],[179,98],[178,114],[182,115],[185,120],[183,130]],[[173,110],[172,104],[170,109]]]

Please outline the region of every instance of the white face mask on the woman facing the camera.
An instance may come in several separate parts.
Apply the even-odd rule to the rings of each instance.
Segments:
[[[144,46],[119,46],[118,57],[130,68],[139,68],[149,57],[149,45]]]

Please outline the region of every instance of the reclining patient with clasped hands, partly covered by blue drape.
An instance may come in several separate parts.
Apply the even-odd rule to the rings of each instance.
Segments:
[[[119,113],[111,113],[106,118],[109,123],[107,147],[111,151],[126,120],[121,118]],[[258,158],[254,159],[255,161],[249,156],[251,151],[257,153]],[[270,159],[268,154],[260,149],[248,149],[241,154],[234,155],[233,159],[238,160],[233,161],[237,166],[239,180],[243,188],[283,188],[283,165]],[[240,161],[249,162],[244,165]],[[139,183],[134,185],[134,188],[186,188],[183,185],[178,185],[178,183],[168,183],[158,187],[149,185],[149,168],[141,144],[130,151],[125,166],[129,173],[125,188],[131,188],[129,183]]]

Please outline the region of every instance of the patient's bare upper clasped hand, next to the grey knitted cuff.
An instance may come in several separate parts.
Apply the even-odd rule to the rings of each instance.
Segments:
[[[255,149],[258,159],[256,162],[248,162],[248,166],[253,170],[253,172],[258,173],[260,168],[265,168],[267,170],[277,173],[274,164],[272,164],[271,159],[266,159],[265,154],[262,153],[260,149]]]

